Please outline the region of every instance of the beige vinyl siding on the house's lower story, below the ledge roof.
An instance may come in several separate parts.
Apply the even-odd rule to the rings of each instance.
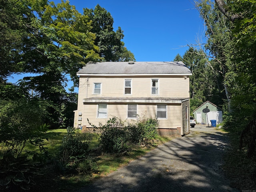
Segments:
[[[181,127],[182,124],[182,114],[181,114],[181,105],[170,104],[167,105],[167,118],[158,119],[159,125],[158,128],[177,128]],[[137,114],[138,118],[146,117],[156,117],[156,104],[138,104],[137,105]],[[109,118],[113,116],[118,117],[122,121],[135,123],[136,119],[127,118],[127,104],[126,103],[108,103],[108,118],[97,118],[97,104],[85,104],[84,105],[84,116],[83,116],[83,125],[91,127],[88,124],[87,118],[90,123],[98,126],[99,122],[105,124]]]

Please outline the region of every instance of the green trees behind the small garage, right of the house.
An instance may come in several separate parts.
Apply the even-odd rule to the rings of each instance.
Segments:
[[[217,105],[222,105],[221,77],[212,68],[213,60],[208,60],[206,53],[202,50],[190,47],[183,55],[177,55],[186,66],[191,70],[190,76],[190,113],[192,114],[203,102],[210,100]]]

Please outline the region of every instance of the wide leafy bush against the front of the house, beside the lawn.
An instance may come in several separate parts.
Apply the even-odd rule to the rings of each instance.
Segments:
[[[131,144],[152,145],[157,133],[158,121],[155,118],[139,118],[136,124],[125,124],[116,117],[101,125],[100,146],[104,152],[126,153]]]

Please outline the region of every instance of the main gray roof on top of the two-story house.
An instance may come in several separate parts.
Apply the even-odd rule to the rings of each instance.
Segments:
[[[89,62],[77,74],[186,74],[192,72],[183,62]]]

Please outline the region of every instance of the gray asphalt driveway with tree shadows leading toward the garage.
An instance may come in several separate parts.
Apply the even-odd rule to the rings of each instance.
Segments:
[[[198,126],[79,192],[238,192],[221,165],[226,135]]]

